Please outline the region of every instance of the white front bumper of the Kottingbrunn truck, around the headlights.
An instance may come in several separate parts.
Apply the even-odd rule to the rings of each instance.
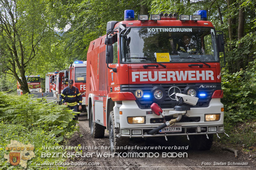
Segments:
[[[174,133],[156,133],[155,135],[148,135],[147,132],[151,129],[154,129],[163,123],[152,123],[152,119],[160,119],[162,116],[157,116],[155,114],[147,114],[150,112],[150,109],[140,109],[135,101],[123,101],[122,105],[116,105],[114,107],[115,112],[115,122],[119,128],[119,135],[122,137],[159,137],[159,136],[182,136],[182,135],[204,135],[204,134],[216,134],[224,133],[223,120],[224,112],[221,112],[223,104],[220,102],[220,99],[212,99],[208,107],[196,107],[191,108],[186,113],[188,118],[197,117],[197,121],[182,121],[176,122],[173,126],[181,126],[181,132]],[[173,116],[177,117],[178,114],[170,115],[170,112],[173,109],[163,109],[163,116]],[[122,111],[122,115],[119,115],[119,111]],[[214,122],[205,122],[205,114],[220,114],[220,119]],[[184,115],[184,114],[183,114]],[[145,116],[144,124],[129,124],[127,122],[127,117],[133,116]],[[216,131],[209,131],[209,127],[216,127]],[[219,130],[219,127],[221,130]],[[199,130],[203,128],[205,130]],[[211,128],[212,129],[212,128]],[[222,130],[223,129],[223,130]],[[129,130],[130,133],[122,134],[122,130]],[[133,135],[133,130],[141,130],[140,135]]]

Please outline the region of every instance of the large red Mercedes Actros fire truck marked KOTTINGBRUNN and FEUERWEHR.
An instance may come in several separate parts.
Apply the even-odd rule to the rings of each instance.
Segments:
[[[133,10],[124,13],[124,21],[109,21],[107,34],[88,49],[92,137],[104,137],[108,129],[112,152],[131,137],[182,135],[193,148],[210,149],[213,134],[224,133],[223,33],[217,34],[204,10],[179,20],[176,12],[138,20]]]

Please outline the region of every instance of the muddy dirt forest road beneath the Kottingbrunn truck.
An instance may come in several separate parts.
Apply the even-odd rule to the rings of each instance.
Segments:
[[[80,132],[76,133],[74,137],[69,140],[70,146],[93,146],[94,148],[84,148],[83,152],[93,153],[110,153],[109,140],[108,140],[108,132],[105,130],[104,138],[96,139],[90,136],[90,128],[88,126],[87,115],[79,116],[79,126]],[[172,137],[168,138],[168,141],[162,138],[136,138],[131,140],[129,146],[143,146],[143,147],[161,147],[161,146],[173,146],[172,150],[159,150],[159,149],[133,149],[127,150],[127,154],[130,153],[140,153],[143,152],[151,152],[154,154],[154,157],[133,157],[133,158],[125,158],[127,154],[117,155],[113,157],[100,157],[96,154],[93,154],[92,157],[84,157],[84,158],[72,158],[69,159],[68,162],[75,163],[74,166],[80,167],[70,167],[70,169],[255,169],[256,167],[256,159],[255,157],[249,157],[250,155],[243,154],[239,152],[239,157],[235,158],[234,153],[228,151],[222,151],[220,148],[220,144],[218,142],[214,142],[212,145],[212,149],[210,151],[194,151],[188,147],[188,149],[179,150],[174,149],[175,146],[188,146],[189,142],[187,137]],[[106,147],[101,148],[101,146]],[[96,149],[95,149],[96,147]],[[227,146],[228,147],[228,146]],[[173,158],[173,157],[164,157],[165,153],[168,152],[176,152],[176,153],[187,153],[185,158]],[[159,154],[159,156],[158,156]],[[171,153],[169,153],[169,156]],[[174,155],[174,154],[173,154]],[[142,158],[141,158],[142,156]],[[158,156],[158,157],[157,157]],[[87,163],[84,167],[81,166],[81,163]],[[88,165],[90,163],[90,165]],[[232,164],[244,164],[244,165],[232,165]],[[94,164],[94,165],[92,165]],[[150,167],[149,167],[150,166]],[[227,167],[229,166],[229,167]],[[231,167],[233,166],[233,167]],[[236,167],[234,167],[236,166]],[[241,166],[250,166],[250,167],[241,167]]]

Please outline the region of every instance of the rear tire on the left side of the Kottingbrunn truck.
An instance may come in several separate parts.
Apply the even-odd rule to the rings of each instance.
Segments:
[[[98,123],[95,123],[93,121],[93,117],[92,117],[92,109],[91,109],[91,112],[90,112],[90,128],[91,128],[91,136],[93,138],[102,138],[104,137],[104,134],[105,134],[105,127],[98,124]]]

